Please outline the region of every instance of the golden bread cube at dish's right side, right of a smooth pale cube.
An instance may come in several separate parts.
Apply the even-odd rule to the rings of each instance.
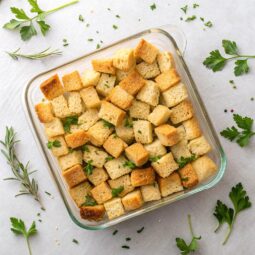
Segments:
[[[188,101],[182,101],[180,104],[176,105],[172,109],[172,114],[170,116],[173,124],[178,124],[182,121],[188,120],[193,116],[192,104]]]

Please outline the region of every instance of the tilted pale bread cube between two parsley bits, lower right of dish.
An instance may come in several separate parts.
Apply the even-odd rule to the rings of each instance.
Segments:
[[[169,176],[173,171],[179,168],[179,165],[174,161],[174,157],[171,152],[162,156],[156,162],[152,162],[151,165],[158,175],[163,178]]]

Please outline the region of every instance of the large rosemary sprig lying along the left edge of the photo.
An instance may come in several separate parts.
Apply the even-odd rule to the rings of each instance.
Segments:
[[[17,181],[21,184],[21,189],[15,197],[32,195],[34,199],[40,203],[41,208],[44,209],[38,193],[38,184],[34,178],[30,178],[30,175],[35,171],[29,172],[29,162],[24,165],[19,161],[16,155],[15,145],[18,142],[19,140],[16,140],[16,133],[14,132],[13,127],[6,127],[5,139],[4,141],[0,140],[0,143],[4,147],[4,149],[1,149],[1,153],[5,156],[14,176],[5,178],[4,180]]]

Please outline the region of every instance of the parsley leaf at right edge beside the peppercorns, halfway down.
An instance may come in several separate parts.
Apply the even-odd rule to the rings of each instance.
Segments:
[[[233,114],[233,119],[241,131],[235,126],[232,126],[231,128],[228,127],[224,129],[220,134],[231,142],[235,141],[241,147],[245,147],[249,144],[250,138],[255,135],[255,131],[252,130],[253,119],[242,117],[238,114]]]

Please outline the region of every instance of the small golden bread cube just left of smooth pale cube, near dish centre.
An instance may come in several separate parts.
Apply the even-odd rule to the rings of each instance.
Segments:
[[[144,102],[133,100],[129,108],[129,115],[131,118],[147,120],[150,114],[150,106]]]

